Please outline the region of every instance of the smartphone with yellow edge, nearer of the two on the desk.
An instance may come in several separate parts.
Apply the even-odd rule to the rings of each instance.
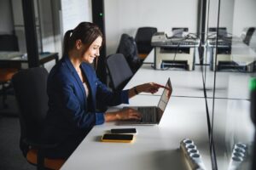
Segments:
[[[102,136],[102,142],[122,142],[130,143],[133,140],[133,134],[113,134],[106,133]]]

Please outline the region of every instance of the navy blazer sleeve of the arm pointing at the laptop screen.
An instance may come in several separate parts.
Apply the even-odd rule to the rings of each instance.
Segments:
[[[112,92],[101,81],[96,79],[96,100],[102,105],[114,106],[129,104],[129,90]]]

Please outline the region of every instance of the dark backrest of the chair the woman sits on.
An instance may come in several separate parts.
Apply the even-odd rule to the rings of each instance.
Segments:
[[[48,111],[48,71],[37,67],[19,71],[12,78],[20,109],[20,139],[36,141]]]

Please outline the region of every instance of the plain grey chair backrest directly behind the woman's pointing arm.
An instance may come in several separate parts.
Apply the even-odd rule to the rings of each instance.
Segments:
[[[121,90],[131,79],[133,73],[123,54],[112,54],[106,59],[113,90]]]

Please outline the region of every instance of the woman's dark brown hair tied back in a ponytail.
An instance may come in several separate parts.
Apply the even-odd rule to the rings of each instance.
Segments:
[[[102,37],[103,39],[102,31],[98,26],[90,22],[81,22],[79,26],[65,33],[63,57],[67,56],[68,51],[75,46],[77,40],[81,40],[84,43],[86,51],[97,37]]]

